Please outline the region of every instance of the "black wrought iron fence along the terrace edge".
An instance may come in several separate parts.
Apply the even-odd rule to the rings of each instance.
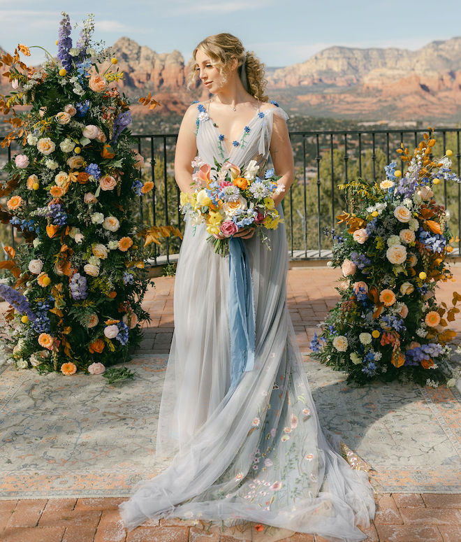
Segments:
[[[384,178],[384,166],[400,157],[395,150],[403,143],[410,150],[418,145],[425,129],[363,129],[351,131],[291,131],[295,157],[295,182],[282,201],[286,235],[291,259],[328,258],[331,237],[325,229],[335,229],[336,215],[347,209],[344,192],[338,185],[353,178]],[[453,150],[453,171],[460,176],[461,128],[437,128],[434,157]],[[177,134],[135,135],[137,150],[145,157],[142,178],[152,180],[154,189],[139,202],[136,219],[143,227],[171,224],[184,231],[180,213],[180,190],[174,180],[173,161]],[[11,159],[15,148],[0,152],[1,161]],[[403,163],[400,164],[403,166]],[[1,174],[0,174],[0,180]],[[460,185],[447,183],[436,187],[436,197],[450,212],[453,233],[461,238]],[[1,224],[0,242],[20,242],[21,236]],[[152,265],[171,263],[177,258],[181,240],[166,238],[151,245]],[[2,251],[3,252],[3,251]],[[458,255],[461,245],[458,243]]]

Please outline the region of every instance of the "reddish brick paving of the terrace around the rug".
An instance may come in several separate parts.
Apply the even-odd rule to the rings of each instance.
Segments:
[[[437,298],[451,304],[457,279],[444,283]],[[301,352],[309,351],[316,324],[335,305],[337,269],[293,268],[288,271],[288,308]],[[173,277],[155,279],[145,297],[152,316],[145,326],[140,353],[167,354],[173,336]],[[0,310],[3,307],[0,307]],[[461,331],[461,318],[452,325]],[[127,533],[117,506],[124,498],[0,500],[2,542],[235,542],[228,534],[208,533],[194,521],[146,522]],[[368,542],[460,542],[460,494],[378,494],[376,517],[367,529]],[[261,539],[259,539],[261,540]],[[321,536],[294,534],[283,542],[325,542]]]

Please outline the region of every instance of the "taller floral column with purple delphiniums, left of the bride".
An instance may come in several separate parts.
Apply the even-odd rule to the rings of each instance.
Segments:
[[[12,359],[22,369],[101,373],[127,359],[148,319],[134,211],[153,183],[140,180],[129,102],[116,87],[123,73],[108,51],[93,47],[93,31],[90,15],[73,46],[63,12],[57,61],[48,54],[43,66],[28,68],[20,55],[29,48],[18,45],[0,62],[13,87],[0,97],[13,126],[1,144],[22,143],[5,166],[0,219],[27,241],[6,248],[0,295],[11,306]],[[149,242],[180,235],[162,231],[150,231]]]

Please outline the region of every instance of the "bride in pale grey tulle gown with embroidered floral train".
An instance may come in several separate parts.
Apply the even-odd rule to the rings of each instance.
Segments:
[[[270,154],[275,205],[293,182],[288,115],[264,96],[263,68],[231,34],[205,38],[194,73],[212,99],[192,104],[177,138],[175,178],[191,192],[195,164],[214,159],[262,175]],[[175,278],[175,332],[161,398],[156,458],[170,464],[120,505],[128,529],[148,518],[261,522],[330,540],[367,537],[374,516],[367,474],[351,469],[325,438],[286,305],[283,222],[235,234],[247,252],[255,316],[254,364],[232,380],[229,256],[214,252],[205,224],[185,218]],[[231,385],[231,380],[233,385]],[[286,536],[286,534],[284,535]],[[279,538],[282,538],[280,536]],[[273,539],[273,538],[272,538]]]

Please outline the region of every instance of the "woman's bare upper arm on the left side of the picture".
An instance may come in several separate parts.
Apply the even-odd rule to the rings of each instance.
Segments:
[[[175,180],[181,192],[192,192],[191,162],[197,155],[196,141],[196,114],[197,106],[192,104],[184,113],[180,131],[177,134],[175,151]]]

